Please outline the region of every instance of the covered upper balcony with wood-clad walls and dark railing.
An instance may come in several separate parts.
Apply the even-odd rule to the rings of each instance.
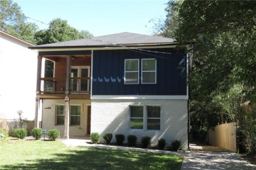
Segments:
[[[89,98],[91,55],[39,56],[40,59],[41,75],[44,75],[37,78],[40,98],[64,98],[67,94],[77,99]],[[45,61],[52,63],[51,66],[42,67]]]

